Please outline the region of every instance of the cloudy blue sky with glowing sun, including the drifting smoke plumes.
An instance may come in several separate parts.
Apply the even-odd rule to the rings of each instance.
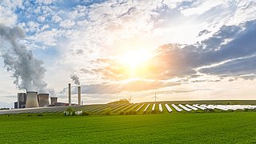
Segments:
[[[0,0],[0,54],[0,107],[256,99],[256,1]]]

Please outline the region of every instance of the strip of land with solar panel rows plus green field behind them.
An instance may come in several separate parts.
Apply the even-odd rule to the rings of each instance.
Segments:
[[[208,103],[207,103],[208,102]],[[215,103],[214,103],[215,102]],[[199,104],[201,103],[201,104]],[[212,104],[214,103],[214,104]],[[162,105],[162,110],[159,110],[159,104]],[[222,105],[220,105],[222,104]],[[239,104],[239,105],[238,105]],[[241,105],[243,104],[243,105]],[[166,105],[170,107],[167,110]],[[195,106],[195,107],[194,107]],[[43,114],[54,113],[63,114],[68,108],[74,112],[86,112],[90,115],[106,114],[109,110],[111,114],[157,114],[157,113],[202,113],[202,112],[227,112],[232,110],[248,111],[256,110],[256,101],[169,101],[169,102],[142,102],[142,103],[107,103],[96,105],[82,106],[49,106],[49,107],[34,107],[27,109],[0,110],[1,114]],[[196,108],[197,107],[197,108]],[[154,108],[154,110],[153,110]],[[176,110],[177,109],[177,110]]]

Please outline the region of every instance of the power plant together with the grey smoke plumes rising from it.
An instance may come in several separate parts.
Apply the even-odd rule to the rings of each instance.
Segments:
[[[18,90],[26,90],[26,93],[18,93],[18,101],[14,102],[14,108],[33,108],[46,106],[73,106],[71,103],[71,86],[69,84],[68,103],[57,102],[57,98],[51,98],[53,102],[49,102],[49,94],[38,94],[38,91],[46,91],[47,83],[45,78],[45,67],[43,62],[35,58],[32,50],[28,50],[25,45],[20,43],[20,40],[26,37],[26,31],[20,26],[4,26],[0,25],[0,38],[4,44],[3,47],[8,47],[1,51],[1,57],[7,71],[11,72],[11,77],[14,78],[14,84]],[[79,78],[72,74],[71,78],[74,83],[79,86]],[[35,91],[30,91],[35,90]],[[81,105],[81,88],[78,88],[78,105]],[[45,92],[43,92],[45,93]]]

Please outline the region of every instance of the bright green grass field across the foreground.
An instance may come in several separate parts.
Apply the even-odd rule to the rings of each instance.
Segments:
[[[256,112],[0,116],[1,143],[255,143]]]

